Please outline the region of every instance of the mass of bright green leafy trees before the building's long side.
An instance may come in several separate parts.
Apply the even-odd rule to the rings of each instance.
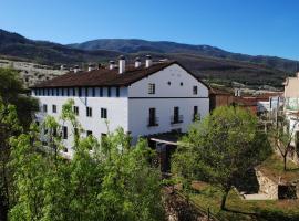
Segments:
[[[59,119],[80,128],[72,105],[72,101],[63,105]],[[73,158],[68,160],[59,154],[63,145],[55,119],[48,117],[42,127],[54,151],[42,151],[35,125],[11,138],[11,165],[17,168],[11,220],[163,219],[161,175],[150,166],[153,152],[145,140],[131,146],[121,128],[103,141],[78,133]]]

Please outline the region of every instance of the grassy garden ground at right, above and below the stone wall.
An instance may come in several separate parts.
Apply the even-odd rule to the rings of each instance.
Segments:
[[[299,179],[299,168],[288,161],[288,171],[283,171],[282,159],[271,155],[258,168],[271,179],[291,182]],[[210,211],[219,220],[299,220],[299,199],[289,200],[245,200],[233,188],[220,210],[223,192],[216,186],[206,182],[194,182],[194,192],[189,193],[193,203],[202,210]]]

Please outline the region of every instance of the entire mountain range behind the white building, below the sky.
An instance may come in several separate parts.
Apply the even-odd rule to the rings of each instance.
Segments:
[[[209,45],[190,45],[137,39],[100,39],[74,44],[34,41],[0,29],[0,56],[50,65],[106,63],[124,54],[128,61],[151,54],[154,60],[176,60],[209,82],[248,86],[281,86],[299,66],[297,61],[276,56],[231,53]]]

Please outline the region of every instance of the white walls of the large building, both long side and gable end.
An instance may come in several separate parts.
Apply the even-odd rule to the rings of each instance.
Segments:
[[[155,84],[155,94],[148,94],[148,84]],[[197,86],[197,94],[194,94],[193,87]],[[63,92],[62,92],[63,90]],[[41,91],[33,96],[40,99],[40,105],[48,105],[49,115],[56,119],[61,114],[62,105],[73,98],[75,106],[79,106],[79,122],[85,130],[91,130],[97,138],[101,134],[106,134],[105,120],[101,119],[101,108],[107,109],[107,120],[110,131],[117,127],[123,127],[130,131],[135,141],[138,136],[167,133],[173,129],[187,131],[188,126],[194,119],[194,106],[198,107],[200,118],[209,113],[208,88],[197,78],[187,73],[178,64],[173,64],[162,71],[158,71],[147,77],[144,77],[128,87],[120,88],[120,97],[116,97],[116,87],[111,87],[111,96],[107,96],[107,88],[81,87],[81,97],[79,88],[59,88],[59,95],[50,91],[48,96],[41,96]],[[52,95],[53,94],[53,95]],[[69,94],[69,96],[68,96]],[[56,105],[58,113],[52,113],[52,105]],[[86,116],[86,106],[92,107],[92,117]],[[183,122],[171,124],[171,117],[174,115],[174,107],[179,107],[179,115],[183,115]],[[150,108],[156,109],[158,125],[148,127]],[[39,120],[44,117],[43,113],[38,114]],[[63,124],[62,122],[60,122]],[[64,140],[69,151],[73,145],[72,128],[68,126],[68,140]]]

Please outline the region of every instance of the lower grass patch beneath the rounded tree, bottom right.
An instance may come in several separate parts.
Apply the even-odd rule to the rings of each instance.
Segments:
[[[221,191],[207,183],[196,183],[190,199],[220,220],[299,220],[299,200],[246,201],[233,189],[227,198],[227,210],[220,210]]]

